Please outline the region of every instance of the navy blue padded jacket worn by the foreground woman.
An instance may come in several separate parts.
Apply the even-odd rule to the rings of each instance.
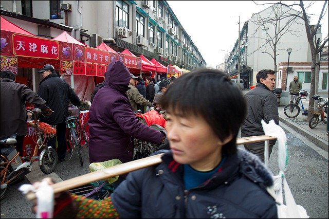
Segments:
[[[120,218],[278,217],[266,191],[272,176],[250,152],[239,149],[208,181],[190,190],[184,188],[182,171],[168,151],[159,165],[129,173],[111,194]]]

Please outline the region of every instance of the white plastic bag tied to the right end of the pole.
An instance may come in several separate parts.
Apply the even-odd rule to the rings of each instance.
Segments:
[[[273,176],[274,186],[268,188],[267,191],[276,199],[278,217],[279,218],[309,218],[306,210],[297,205],[293,194],[290,191],[284,171],[287,169],[288,164],[288,148],[287,137],[283,129],[277,125],[274,120],[269,121],[267,124],[262,120],[263,130],[265,135],[277,137],[278,142],[278,161],[280,172],[279,175]],[[283,187],[282,187],[283,184]],[[284,188],[284,195],[283,195]],[[283,196],[285,204],[283,202]]]

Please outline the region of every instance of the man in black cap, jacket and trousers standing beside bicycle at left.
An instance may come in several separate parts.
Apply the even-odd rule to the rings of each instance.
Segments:
[[[60,161],[65,161],[66,138],[65,138],[65,118],[68,116],[68,101],[75,106],[80,106],[80,99],[72,88],[59,78],[52,65],[44,65],[38,71],[43,78],[39,84],[38,95],[47,102],[53,110],[49,117],[41,117],[40,121],[49,125],[56,125],[58,149],[57,154]],[[48,140],[48,146],[56,150],[56,138]]]

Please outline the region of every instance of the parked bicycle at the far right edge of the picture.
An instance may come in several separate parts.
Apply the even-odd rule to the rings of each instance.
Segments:
[[[319,95],[313,95],[312,98],[318,101],[317,107],[312,107],[312,106],[308,107],[309,113],[313,114],[308,121],[308,126],[311,129],[314,129],[317,126],[320,117],[321,117],[321,121],[326,123],[326,121],[324,121],[324,118],[326,118],[324,116],[324,112],[327,113],[328,98],[324,100]]]

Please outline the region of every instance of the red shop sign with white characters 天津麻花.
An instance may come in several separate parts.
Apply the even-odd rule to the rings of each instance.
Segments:
[[[37,36],[13,33],[13,52],[15,56],[39,59],[59,59],[59,42]]]

